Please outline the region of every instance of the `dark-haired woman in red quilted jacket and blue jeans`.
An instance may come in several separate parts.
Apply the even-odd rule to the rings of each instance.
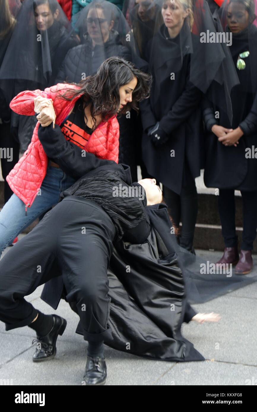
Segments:
[[[150,82],[150,76],[132,63],[111,57],[79,85],[27,90],[11,101],[11,109],[20,115],[37,112],[38,123],[28,150],[6,179],[14,194],[0,212],[0,254],[80,176],[108,161],[118,163],[116,116],[137,110],[137,103],[149,94]],[[39,138],[44,128],[50,140],[51,133],[61,133],[51,158]]]

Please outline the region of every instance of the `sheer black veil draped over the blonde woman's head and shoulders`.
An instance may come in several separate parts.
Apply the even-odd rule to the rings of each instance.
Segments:
[[[157,5],[163,14],[170,5],[177,7],[176,2],[189,10],[179,34],[170,37],[167,22],[163,20],[160,24],[156,19],[156,35],[149,41],[144,53],[149,70],[155,77],[155,87],[158,91],[158,85],[167,77],[172,80],[173,75],[175,78],[176,73],[182,70],[184,58],[190,56],[190,82],[203,94],[207,93],[213,82],[221,85],[226,93],[224,107],[231,117],[230,91],[238,84],[238,77],[229,47],[219,41],[210,41],[210,34],[216,39],[217,30],[220,29],[217,19],[212,16],[205,0],[154,0],[151,7]],[[216,103],[216,96],[211,95],[211,98]]]

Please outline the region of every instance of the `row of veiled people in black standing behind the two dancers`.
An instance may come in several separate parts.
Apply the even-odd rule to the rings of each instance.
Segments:
[[[12,98],[21,91],[83,82],[107,58],[122,57],[151,73],[153,82],[139,114],[132,110],[118,117],[119,162],[130,166],[132,181],[140,165],[143,177],[163,184],[174,223],[182,222],[180,244],[192,252],[195,178],[204,169],[205,185],[219,189],[226,247],[220,262],[239,260],[234,190],[240,190],[243,242],[237,271],[249,272],[257,226],[256,160],[245,157],[257,122],[254,0],[225,1],[220,9],[214,1],[130,0],[123,12],[110,2],[93,1],[76,15],[73,28],[55,0],[18,3],[10,2],[10,8],[1,2],[1,145],[12,147],[12,160],[1,159],[5,202],[12,195],[6,177],[31,143],[37,122],[10,110]],[[208,30],[229,33],[231,45],[201,42]]]

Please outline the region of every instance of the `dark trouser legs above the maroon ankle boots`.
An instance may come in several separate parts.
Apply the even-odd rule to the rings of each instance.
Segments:
[[[241,249],[252,250],[257,230],[257,191],[241,191],[243,202],[243,234]],[[226,248],[237,246],[235,191],[219,189],[219,216]]]

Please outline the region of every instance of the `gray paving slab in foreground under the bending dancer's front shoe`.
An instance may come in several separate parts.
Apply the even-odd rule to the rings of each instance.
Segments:
[[[24,338],[22,338],[24,339]],[[82,385],[86,360],[83,338],[68,342],[58,338],[57,355],[44,363],[33,363],[35,348],[2,365],[0,378],[13,379],[14,385]],[[105,349],[107,385],[148,385],[167,372],[170,363],[148,361],[111,348]],[[21,373],[22,371],[22,373]]]

